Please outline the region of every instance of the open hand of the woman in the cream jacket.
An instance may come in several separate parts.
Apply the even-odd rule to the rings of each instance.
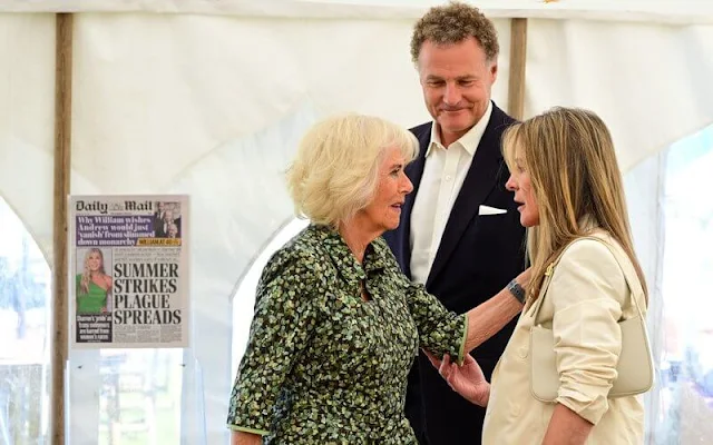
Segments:
[[[470,403],[478,406],[487,406],[490,398],[490,384],[486,380],[480,365],[470,354],[466,354],[462,366],[450,362],[450,356],[446,354],[439,360],[428,350],[424,350],[428,359],[438,373],[448,382],[448,385],[456,393],[463,396]]]

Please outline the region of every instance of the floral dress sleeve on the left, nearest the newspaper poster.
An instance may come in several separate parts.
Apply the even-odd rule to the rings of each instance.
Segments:
[[[227,426],[265,435],[273,407],[316,325],[313,256],[280,250],[257,285],[245,355],[233,385]]]

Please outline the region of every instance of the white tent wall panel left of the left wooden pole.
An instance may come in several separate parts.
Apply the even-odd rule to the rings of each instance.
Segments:
[[[0,14],[0,195],[48,254],[52,245],[55,16]]]

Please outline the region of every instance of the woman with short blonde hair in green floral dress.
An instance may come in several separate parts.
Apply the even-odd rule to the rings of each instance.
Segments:
[[[399,225],[417,150],[407,130],[358,115],[303,138],[287,180],[311,224],[257,286],[231,396],[233,444],[416,444],[403,404],[418,348],[460,360],[521,309],[502,289],[449,313],[400,271],[381,235]]]

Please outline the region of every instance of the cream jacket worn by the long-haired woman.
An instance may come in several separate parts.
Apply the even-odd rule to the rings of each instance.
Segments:
[[[608,235],[604,239],[619,250]],[[639,300],[644,312],[646,301]],[[556,406],[530,394],[529,334],[536,305],[520,315],[491,380],[482,443],[540,444]],[[642,444],[641,396],[607,398],[622,349],[617,322],[636,314],[632,294],[614,255],[592,239],[575,241],[554,269],[538,323],[553,329],[560,403],[595,426],[587,444]],[[645,316],[645,313],[644,313]]]

